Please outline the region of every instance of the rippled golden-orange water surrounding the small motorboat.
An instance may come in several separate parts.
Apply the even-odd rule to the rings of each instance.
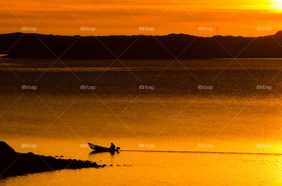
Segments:
[[[2,60],[0,140],[108,167],[1,185],[282,184],[281,59]]]

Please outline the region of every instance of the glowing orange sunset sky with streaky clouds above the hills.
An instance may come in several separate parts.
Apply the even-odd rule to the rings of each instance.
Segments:
[[[0,4],[0,33],[34,33],[35,27],[35,33],[53,35],[210,37],[219,27],[219,35],[256,37],[282,30],[282,0],[0,0]]]

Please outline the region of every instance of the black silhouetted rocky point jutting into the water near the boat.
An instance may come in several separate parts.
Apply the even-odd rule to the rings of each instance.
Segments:
[[[76,159],[56,159],[32,152],[18,153],[5,142],[0,142],[0,179],[9,176],[40,173],[59,169],[100,168],[96,162]]]

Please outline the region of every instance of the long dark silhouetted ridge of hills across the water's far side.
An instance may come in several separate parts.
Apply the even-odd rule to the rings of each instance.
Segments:
[[[0,41],[0,54],[10,54],[3,58],[202,59],[237,55],[237,58],[282,58],[282,31],[257,38],[186,34],[80,37],[17,32],[1,34]]]

